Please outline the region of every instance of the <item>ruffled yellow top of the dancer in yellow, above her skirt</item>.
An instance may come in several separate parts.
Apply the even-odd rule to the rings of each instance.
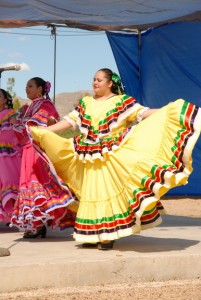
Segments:
[[[91,96],[82,98],[67,116],[76,122],[81,132],[74,138],[79,158],[103,160],[105,153],[119,147],[144,109],[128,95],[115,95],[104,101]]]

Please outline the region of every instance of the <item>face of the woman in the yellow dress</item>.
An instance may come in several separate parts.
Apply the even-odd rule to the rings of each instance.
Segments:
[[[112,81],[108,80],[103,71],[98,71],[94,76],[92,86],[95,95],[104,96],[111,93]]]

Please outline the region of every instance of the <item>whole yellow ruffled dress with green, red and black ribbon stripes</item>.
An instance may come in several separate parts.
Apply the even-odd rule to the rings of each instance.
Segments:
[[[128,95],[87,96],[66,117],[79,126],[75,138],[31,128],[79,200],[76,241],[115,240],[159,225],[165,214],[160,197],[187,183],[200,108],[179,99],[140,122],[145,109]]]

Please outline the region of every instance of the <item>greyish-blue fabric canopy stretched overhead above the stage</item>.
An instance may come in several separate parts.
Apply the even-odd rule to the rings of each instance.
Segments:
[[[66,24],[87,30],[147,29],[201,20],[198,0],[0,0],[0,27]]]

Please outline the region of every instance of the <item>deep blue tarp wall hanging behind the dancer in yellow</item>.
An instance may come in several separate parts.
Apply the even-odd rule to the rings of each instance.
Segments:
[[[183,98],[201,106],[201,22],[178,22],[141,36],[107,32],[126,93],[159,108]],[[168,195],[201,195],[201,138],[193,152],[194,171],[185,186]]]

